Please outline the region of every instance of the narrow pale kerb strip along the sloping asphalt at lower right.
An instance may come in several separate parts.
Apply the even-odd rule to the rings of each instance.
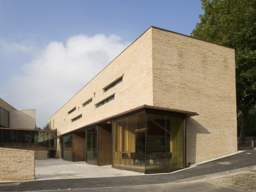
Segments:
[[[254,170],[254,169],[256,169],[256,165],[248,166],[248,167],[245,167],[245,168],[239,168],[239,169],[236,169],[236,170],[229,170],[229,171],[226,171],[226,172],[212,173],[212,174],[208,174],[208,175],[200,175],[198,177],[191,177],[191,178],[188,178],[188,179],[175,180],[175,181],[170,182],[170,183],[204,180],[204,179],[209,179],[209,178],[212,178],[212,177],[219,177],[219,176],[221,177],[221,176],[226,176],[226,175],[232,175],[232,174],[235,174],[235,173],[244,172],[244,171],[248,171],[248,170]]]

